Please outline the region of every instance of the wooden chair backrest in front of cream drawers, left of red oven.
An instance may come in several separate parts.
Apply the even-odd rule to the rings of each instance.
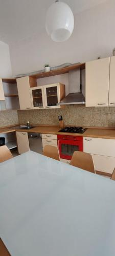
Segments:
[[[59,161],[59,152],[56,146],[51,146],[51,145],[44,146],[43,155]]]

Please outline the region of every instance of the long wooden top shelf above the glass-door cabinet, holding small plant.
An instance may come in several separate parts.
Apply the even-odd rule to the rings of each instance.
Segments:
[[[43,77],[49,77],[49,76],[56,76],[56,75],[66,74],[70,70],[74,70],[74,69],[81,69],[81,70],[85,69],[85,63],[78,63],[78,64],[75,64],[75,65],[72,65],[72,66],[68,66],[66,68],[62,68],[62,69],[52,70],[50,72],[43,72],[43,73],[31,75],[31,77],[37,79],[37,78],[43,78]]]

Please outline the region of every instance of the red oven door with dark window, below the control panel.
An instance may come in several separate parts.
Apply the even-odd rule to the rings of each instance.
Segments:
[[[83,141],[58,140],[60,158],[71,160],[74,151],[83,151]]]

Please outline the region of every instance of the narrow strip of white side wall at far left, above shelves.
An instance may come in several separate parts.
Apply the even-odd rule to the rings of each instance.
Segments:
[[[12,77],[9,46],[0,41],[0,77]]]

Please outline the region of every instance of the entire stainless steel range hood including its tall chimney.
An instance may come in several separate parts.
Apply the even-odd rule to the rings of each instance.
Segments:
[[[68,81],[70,93],[58,105],[85,104],[85,70],[69,71]]]

